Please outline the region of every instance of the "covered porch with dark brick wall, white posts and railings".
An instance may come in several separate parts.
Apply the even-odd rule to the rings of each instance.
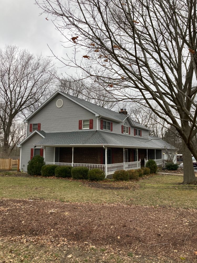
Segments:
[[[44,148],[46,164],[85,166],[105,171],[106,176],[117,170],[139,169],[148,159],[162,165],[162,150],[108,148],[104,147],[54,147],[54,161],[47,161],[47,147]]]

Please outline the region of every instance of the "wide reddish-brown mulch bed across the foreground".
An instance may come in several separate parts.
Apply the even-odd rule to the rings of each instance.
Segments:
[[[197,258],[197,210],[124,204],[0,200],[0,238],[28,236],[111,246],[137,254]],[[183,262],[183,261],[182,261]]]

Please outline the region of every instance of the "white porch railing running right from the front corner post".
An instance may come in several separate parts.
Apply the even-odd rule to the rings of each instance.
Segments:
[[[129,163],[107,164],[107,175],[113,174],[117,170],[131,170],[138,168],[140,168],[140,160]]]

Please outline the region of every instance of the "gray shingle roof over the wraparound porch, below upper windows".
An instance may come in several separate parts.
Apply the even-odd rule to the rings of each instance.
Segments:
[[[72,131],[45,133],[46,137],[37,145],[110,145],[125,146],[133,148],[174,148],[162,139],[150,136],[149,139],[129,136],[124,134],[110,133],[106,131]]]

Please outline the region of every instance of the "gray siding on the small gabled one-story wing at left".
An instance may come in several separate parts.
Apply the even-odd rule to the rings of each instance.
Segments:
[[[31,157],[31,148],[34,148],[34,145],[40,141],[43,137],[35,133],[29,140],[22,144],[21,148],[21,160],[20,160],[20,169],[24,172],[27,171],[28,161]]]

